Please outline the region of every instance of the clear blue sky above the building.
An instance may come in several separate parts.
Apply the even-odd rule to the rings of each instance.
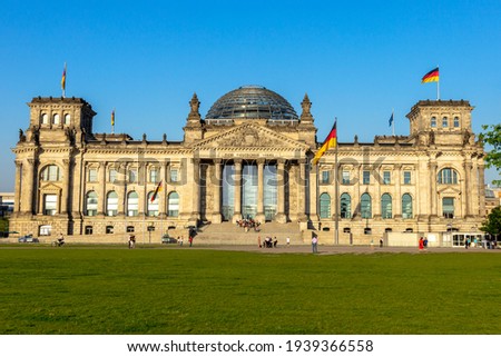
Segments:
[[[262,85],[301,112],[307,92],[322,140],[409,133],[405,115],[435,99],[421,77],[440,65],[441,98],[475,107],[473,130],[501,120],[501,1],[2,1],[0,190],[13,190],[18,131],[33,97],[81,97],[96,132],[183,139],[229,90]],[[494,171],[488,180],[498,178]]]

